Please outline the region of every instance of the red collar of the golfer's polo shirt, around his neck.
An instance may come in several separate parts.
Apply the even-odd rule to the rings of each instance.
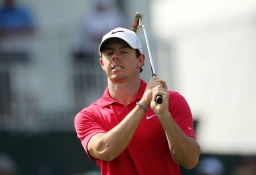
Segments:
[[[141,87],[139,88],[139,91],[137,92],[137,95],[134,97],[133,100],[131,100],[130,103],[133,103],[134,101],[136,101],[137,99],[141,99],[143,96],[143,93],[146,89],[147,83],[144,82],[144,80],[141,79]],[[118,101],[113,100],[112,97],[109,94],[109,88],[107,87],[105,89],[105,92],[103,93],[102,97],[101,97],[101,107],[105,107],[107,105],[113,104],[113,103],[118,103]]]

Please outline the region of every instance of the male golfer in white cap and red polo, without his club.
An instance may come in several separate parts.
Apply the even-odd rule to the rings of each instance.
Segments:
[[[180,174],[179,164],[198,163],[191,110],[166,82],[141,77],[145,56],[137,35],[125,28],[107,33],[99,47],[108,76],[101,99],[75,118],[77,136],[102,174]],[[155,98],[162,95],[163,103]]]

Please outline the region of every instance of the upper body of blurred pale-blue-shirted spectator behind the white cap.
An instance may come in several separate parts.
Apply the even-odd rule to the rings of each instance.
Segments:
[[[89,59],[97,56],[97,47],[102,36],[115,27],[123,27],[125,18],[115,0],[96,0],[93,7],[81,21],[79,43],[75,48],[75,58]]]

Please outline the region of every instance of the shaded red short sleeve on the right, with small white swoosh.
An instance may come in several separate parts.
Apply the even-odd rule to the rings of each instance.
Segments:
[[[170,93],[169,104],[170,113],[183,133],[196,138],[191,109],[185,98],[178,92]]]

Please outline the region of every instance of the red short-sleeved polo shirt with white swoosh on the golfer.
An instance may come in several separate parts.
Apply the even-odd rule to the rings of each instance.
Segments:
[[[101,99],[76,115],[77,136],[90,159],[100,166],[101,174],[180,174],[179,165],[172,160],[166,134],[151,108],[144,114],[125,151],[114,160],[107,162],[96,159],[87,149],[87,144],[94,134],[108,132],[126,117],[136,102],[141,100],[146,86],[146,82],[141,80],[137,95],[126,106],[113,100],[109,89],[106,88]],[[186,135],[195,138],[192,114],[187,101],[177,92],[168,93],[172,117]]]

